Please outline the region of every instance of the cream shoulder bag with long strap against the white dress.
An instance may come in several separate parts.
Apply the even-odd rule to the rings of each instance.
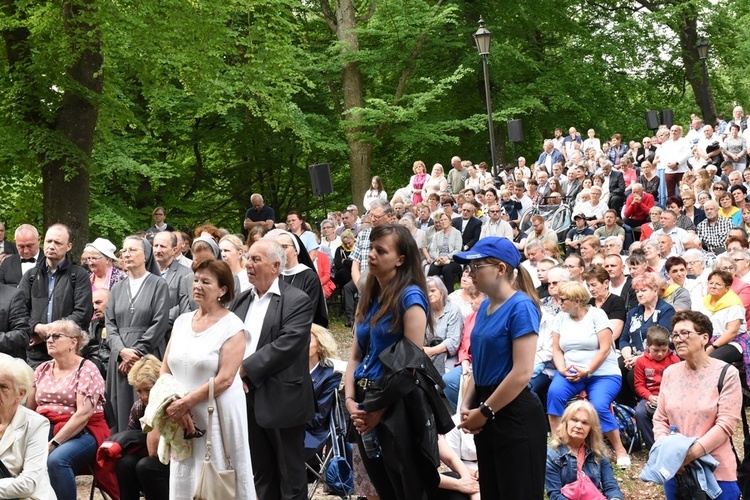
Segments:
[[[193,494],[193,500],[223,500],[235,498],[236,478],[232,462],[227,449],[227,438],[224,434],[224,424],[219,412],[219,427],[221,428],[221,440],[224,445],[224,456],[227,459],[227,470],[219,471],[211,462],[211,430],[213,429],[213,414],[219,410],[218,402],[214,399],[214,378],[208,379],[208,430],[206,431],[206,457],[198,477],[198,484]]]

